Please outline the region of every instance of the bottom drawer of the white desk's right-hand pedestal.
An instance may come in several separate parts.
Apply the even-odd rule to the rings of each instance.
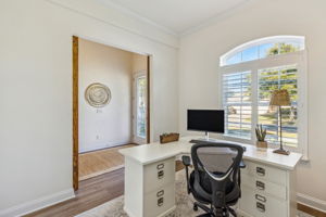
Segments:
[[[242,187],[239,207],[253,217],[287,217],[287,202]]]

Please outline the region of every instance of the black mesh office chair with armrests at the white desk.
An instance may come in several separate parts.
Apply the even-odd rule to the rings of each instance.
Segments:
[[[237,216],[230,207],[238,202],[240,190],[240,167],[243,148],[233,143],[201,142],[191,148],[193,171],[189,176],[190,157],[183,156],[186,166],[188,193],[205,214],[200,217]]]

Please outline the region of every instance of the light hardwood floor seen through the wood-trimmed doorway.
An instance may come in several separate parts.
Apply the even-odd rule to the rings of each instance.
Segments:
[[[126,144],[79,154],[79,181],[122,168],[124,157],[118,150],[135,145]]]

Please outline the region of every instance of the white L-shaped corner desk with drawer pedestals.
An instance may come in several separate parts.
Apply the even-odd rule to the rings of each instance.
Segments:
[[[189,155],[191,139],[159,142],[120,150],[125,156],[125,212],[130,217],[164,216],[175,208],[175,159]],[[222,140],[216,140],[222,141]],[[226,142],[226,141],[223,141]],[[238,212],[249,217],[294,217],[296,165],[301,154],[274,154],[247,148],[241,170],[242,197]]]

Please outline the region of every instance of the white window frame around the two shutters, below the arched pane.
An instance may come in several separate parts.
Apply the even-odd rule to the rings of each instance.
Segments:
[[[247,47],[248,48],[248,47]],[[230,52],[229,52],[230,53]],[[255,135],[254,128],[258,123],[258,72],[263,68],[272,68],[277,66],[287,66],[287,65],[296,65],[298,69],[298,146],[291,148],[286,146],[288,150],[293,152],[300,152],[303,154],[303,159],[309,158],[308,152],[308,67],[306,67],[306,50],[296,51],[291,53],[283,53],[277,55],[271,55],[265,59],[259,59],[254,61],[241,62],[233,65],[224,65],[220,66],[218,73],[218,84],[220,84],[220,107],[224,107],[223,102],[223,75],[231,74],[236,72],[251,72],[251,89],[252,91],[252,132],[251,139],[241,139],[227,135],[223,135],[223,139],[244,142],[254,144]],[[271,145],[269,148],[275,148],[275,145]]]

